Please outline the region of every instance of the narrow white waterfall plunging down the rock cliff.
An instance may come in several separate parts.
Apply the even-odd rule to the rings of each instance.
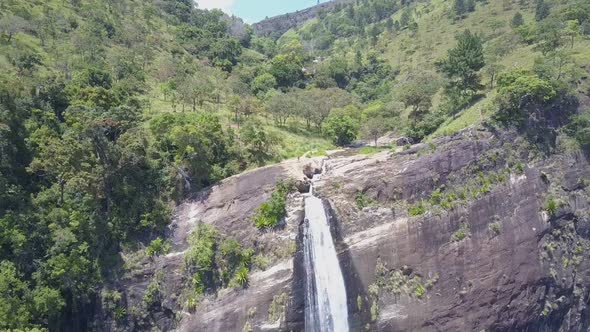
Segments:
[[[313,182],[305,198],[304,265],[305,331],[348,332],[348,306],[342,270],[330,233],[324,204],[313,196]]]

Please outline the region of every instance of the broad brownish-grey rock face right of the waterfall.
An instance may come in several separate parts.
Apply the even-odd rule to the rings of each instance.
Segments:
[[[586,156],[479,131],[435,144],[327,162],[354,329],[586,331]]]

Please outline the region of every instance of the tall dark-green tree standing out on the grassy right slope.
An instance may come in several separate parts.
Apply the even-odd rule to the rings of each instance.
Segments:
[[[438,61],[436,66],[449,79],[447,94],[472,96],[481,87],[478,72],[485,66],[482,40],[469,30],[456,39],[457,46],[450,49],[447,58]]]

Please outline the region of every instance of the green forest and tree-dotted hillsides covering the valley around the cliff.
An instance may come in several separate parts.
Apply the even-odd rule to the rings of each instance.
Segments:
[[[95,328],[121,253],[164,254],[175,204],[244,170],[588,108],[589,36],[585,0],[357,0],[278,39],[191,0],[4,0],[0,330]],[[590,110],[562,135],[590,146]],[[254,253],[219,246],[209,284],[243,286]]]

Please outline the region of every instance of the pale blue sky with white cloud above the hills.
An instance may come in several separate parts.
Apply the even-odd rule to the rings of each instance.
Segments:
[[[201,9],[219,8],[256,23],[265,17],[294,12],[317,4],[317,0],[196,0]],[[320,0],[326,2],[326,0]]]

